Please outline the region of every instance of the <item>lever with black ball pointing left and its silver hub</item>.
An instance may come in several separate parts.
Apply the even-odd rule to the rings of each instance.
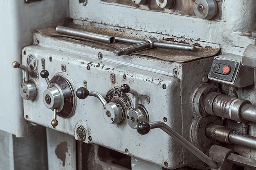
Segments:
[[[105,98],[103,98],[103,96],[101,96],[101,94],[99,93],[91,91],[89,92],[88,89],[86,89],[85,87],[80,87],[76,91],[76,96],[80,99],[85,99],[88,96],[97,97],[103,105],[103,118],[106,120],[106,122],[115,124],[121,123],[124,120],[125,113],[123,112],[119,103],[107,103]]]

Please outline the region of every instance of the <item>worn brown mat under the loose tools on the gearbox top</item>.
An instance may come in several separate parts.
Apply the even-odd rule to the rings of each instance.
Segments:
[[[141,37],[138,35],[132,35],[132,34],[128,34],[128,33],[108,30],[108,29],[104,29],[104,28],[97,28],[97,27],[92,27],[92,26],[82,26],[82,25],[70,24],[69,27],[79,29],[79,30],[89,31],[92,33],[110,35],[110,36],[114,36],[114,37],[126,37],[126,38],[144,39],[144,40],[148,39],[147,37]],[[55,28],[43,28],[43,29],[38,29],[38,31],[42,35],[54,36],[56,38],[67,37],[67,38],[69,38],[70,41],[75,41],[74,39],[76,39],[76,40],[79,40],[79,41],[75,41],[77,43],[92,46],[94,48],[103,48],[105,50],[110,50],[110,51],[114,51],[117,48],[123,48],[123,47],[127,46],[127,44],[122,44],[122,43],[114,43],[114,44],[110,45],[110,44],[105,44],[105,43],[101,43],[101,42],[96,42],[96,41],[92,41],[92,40],[79,38],[79,37],[61,35],[55,31]],[[159,41],[170,43],[170,41],[165,41],[165,40],[159,40]],[[177,42],[171,42],[171,43],[179,44]],[[154,48],[154,49],[144,50],[144,51],[140,51],[140,52],[136,52],[136,53],[132,53],[132,54],[141,55],[141,56],[148,57],[148,58],[160,59],[163,61],[188,62],[188,61],[193,61],[193,60],[197,60],[197,59],[202,59],[205,57],[212,57],[212,56],[215,56],[216,54],[218,54],[219,52],[220,52],[220,48],[213,49],[213,48],[197,47],[196,51]]]

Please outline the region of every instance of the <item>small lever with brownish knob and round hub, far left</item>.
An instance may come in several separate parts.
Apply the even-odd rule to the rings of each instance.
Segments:
[[[36,98],[36,84],[33,81],[29,81],[29,71],[27,70],[27,67],[18,63],[18,61],[13,61],[12,66],[13,68],[20,68],[24,72],[24,83],[20,85],[20,96],[25,100]]]

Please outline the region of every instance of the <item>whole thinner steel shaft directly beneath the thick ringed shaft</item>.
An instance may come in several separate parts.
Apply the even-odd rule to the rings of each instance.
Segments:
[[[233,129],[218,124],[209,124],[205,129],[208,138],[225,142],[228,144],[238,144],[256,149],[256,137],[238,133]]]

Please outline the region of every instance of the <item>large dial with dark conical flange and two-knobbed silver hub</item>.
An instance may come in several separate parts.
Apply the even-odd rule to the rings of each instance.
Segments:
[[[43,93],[43,102],[47,108],[53,110],[52,126],[55,128],[58,125],[57,115],[62,118],[72,116],[75,106],[74,90],[64,74],[53,76],[51,81],[49,81],[47,70],[42,70],[40,76],[45,78],[48,85]]]

